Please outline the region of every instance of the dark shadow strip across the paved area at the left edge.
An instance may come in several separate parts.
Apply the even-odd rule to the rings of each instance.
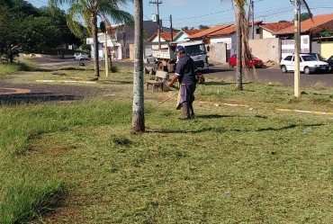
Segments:
[[[47,93],[33,93],[33,94],[4,94],[0,95],[0,105],[13,105],[21,103],[45,103],[54,101],[74,101],[82,100],[83,96],[70,95],[70,94],[47,94]]]

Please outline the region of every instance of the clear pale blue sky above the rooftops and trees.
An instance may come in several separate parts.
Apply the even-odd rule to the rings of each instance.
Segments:
[[[48,0],[27,0],[35,7],[45,6]],[[157,13],[163,20],[163,26],[170,27],[170,15],[172,27],[182,29],[184,27],[197,29],[200,25],[208,27],[220,24],[234,23],[234,10],[231,0],[143,0],[143,19],[151,20],[152,13]],[[249,3],[250,0],[247,0]],[[255,21],[279,22],[282,20],[293,21],[294,10],[290,0],[254,0]],[[333,0],[306,0],[313,15],[333,13]],[[66,10],[64,5],[61,7]],[[134,14],[134,4],[121,6],[121,9]],[[305,7],[301,13],[307,13]]]

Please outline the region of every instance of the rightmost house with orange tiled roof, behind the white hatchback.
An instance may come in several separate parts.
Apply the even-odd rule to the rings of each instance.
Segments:
[[[315,38],[320,31],[333,31],[333,13],[320,14],[301,22],[301,52],[319,53],[324,58],[332,55],[332,41],[318,41]],[[281,56],[294,52],[294,26],[274,33],[281,40]]]

